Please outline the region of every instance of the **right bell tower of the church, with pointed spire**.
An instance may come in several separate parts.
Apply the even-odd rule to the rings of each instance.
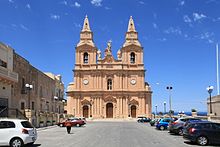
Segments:
[[[135,29],[134,20],[130,16],[128,30],[125,35],[125,42],[121,48],[122,63],[143,64],[143,47],[138,40],[138,32]]]

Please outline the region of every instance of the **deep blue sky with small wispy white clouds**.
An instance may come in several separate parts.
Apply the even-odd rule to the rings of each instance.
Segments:
[[[132,15],[144,47],[153,111],[168,103],[166,86],[173,87],[175,111],[206,111],[206,88],[213,85],[217,94],[219,7],[218,0],[1,0],[0,41],[39,70],[61,74],[67,86],[85,15],[98,49],[112,40],[115,57]]]

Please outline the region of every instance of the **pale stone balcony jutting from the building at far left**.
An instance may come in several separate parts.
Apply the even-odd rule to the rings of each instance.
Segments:
[[[6,83],[18,82],[18,74],[0,66],[0,81]]]

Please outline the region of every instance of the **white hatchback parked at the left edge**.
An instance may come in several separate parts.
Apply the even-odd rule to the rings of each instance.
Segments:
[[[36,128],[23,119],[0,119],[0,146],[22,147],[34,144],[37,139]]]

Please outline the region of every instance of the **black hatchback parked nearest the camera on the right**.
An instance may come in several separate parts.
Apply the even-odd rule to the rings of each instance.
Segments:
[[[202,146],[220,144],[220,124],[209,121],[191,122],[183,129],[183,138]]]

